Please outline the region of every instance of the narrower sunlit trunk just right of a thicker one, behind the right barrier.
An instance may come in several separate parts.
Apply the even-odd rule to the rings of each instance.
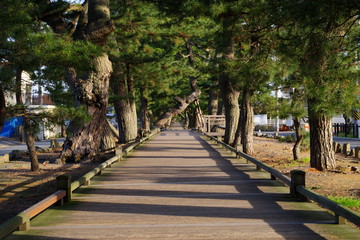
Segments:
[[[249,155],[254,153],[254,109],[251,104],[252,91],[245,88],[241,101],[241,143],[243,152]]]

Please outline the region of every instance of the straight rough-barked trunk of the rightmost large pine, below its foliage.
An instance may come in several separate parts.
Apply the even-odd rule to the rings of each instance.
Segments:
[[[332,119],[317,113],[309,103],[310,125],[310,165],[323,171],[336,168],[334,150],[332,147]]]

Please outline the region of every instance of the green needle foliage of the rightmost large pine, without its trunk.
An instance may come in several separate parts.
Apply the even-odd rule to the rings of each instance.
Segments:
[[[309,109],[331,116],[357,105],[358,14],[349,1],[285,1],[277,52],[294,69]],[[285,11],[284,11],[285,9]],[[279,15],[279,16],[280,16]],[[285,57],[281,57],[281,55]]]

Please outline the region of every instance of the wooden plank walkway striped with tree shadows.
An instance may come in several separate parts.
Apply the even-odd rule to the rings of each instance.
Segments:
[[[199,133],[161,132],[6,239],[359,239]]]

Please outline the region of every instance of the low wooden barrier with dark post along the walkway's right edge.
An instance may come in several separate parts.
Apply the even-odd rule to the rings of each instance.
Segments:
[[[305,188],[305,172],[301,170],[292,170],[291,171],[291,178],[288,176],[283,175],[281,172],[277,171],[276,169],[267,166],[266,164],[260,162],[259,160],[243,153],[240,151],[236,151],[235,148],[227,145],[226,143],[219,141],[213,136],[209,136],[205,134],[208,138],[215,141],[217,144],[223,146],[227,150],[235,153],[238,157],[243,157],[247,161],[256,165],[256,169],[260,170],[263,169],[270,173],[271,179],[278,179],[284,185],[290,187],[290,194],[294,197],[300,198],[302,201],[312,200],[316,202],[319,206],[330,210],[335,215],[336,224],[345,223],[344,219],[348,220],[349,222],[355,224],[356,226],[360,227],[360,214],[351,209],[342,206],[310,189]]]

